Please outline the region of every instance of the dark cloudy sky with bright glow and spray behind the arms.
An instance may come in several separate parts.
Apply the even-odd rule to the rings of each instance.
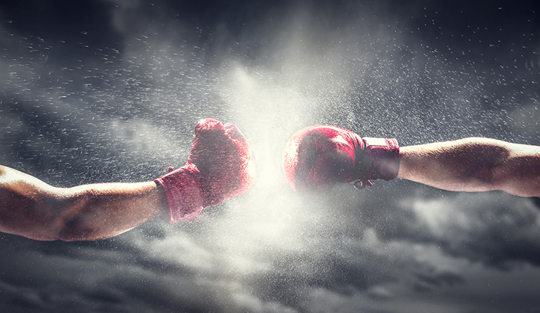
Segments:
[[[409,181],[294,194],[281,149],[335,124],[402,146],[540,144],[538,1],[0,2],[0,164],[146,181],[203,117],[249,193],[109,240],[0,234],[1,312],[540,312],[537,198]]]

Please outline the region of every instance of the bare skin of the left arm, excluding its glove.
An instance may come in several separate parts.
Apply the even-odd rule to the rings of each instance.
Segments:
[[[153,181],[55,188],[0,166],[0,231],[36,240],[96,240],[168,211]]]

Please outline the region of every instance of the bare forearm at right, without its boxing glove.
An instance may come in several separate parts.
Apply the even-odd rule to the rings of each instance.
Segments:
[[[468,138],[402,147],[401,179],[450,191],[540,196],[540,147]]]

